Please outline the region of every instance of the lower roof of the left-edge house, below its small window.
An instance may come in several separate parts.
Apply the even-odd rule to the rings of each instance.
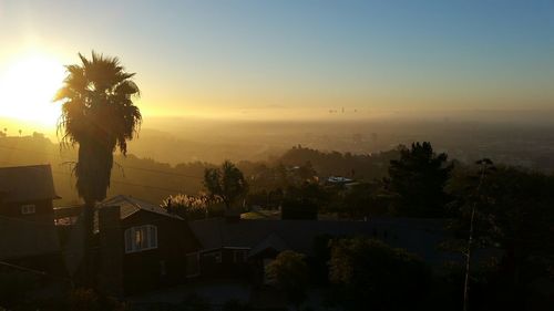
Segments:
[[[0,217],[0,260],[54,253],[60,241],[53,222]]]

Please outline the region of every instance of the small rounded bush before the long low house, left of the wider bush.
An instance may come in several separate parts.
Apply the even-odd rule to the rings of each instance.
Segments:
[[[278,288],[285,291],[288,301],[297,308],[306,299],[308,287],[308,267],[305,256],[291,250],[280,252],[267,266],[267,277],[275,280]]]

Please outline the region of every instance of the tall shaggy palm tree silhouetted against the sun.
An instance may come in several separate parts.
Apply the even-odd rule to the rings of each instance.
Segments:
[[[68,75],[54,102],[62,102],[58,134],[64,145],[79,145],[73,173],[84,200],[85,281],[92,284],[93,216],[95,204],[106,197],[113,153],[127,152],[127,141],[137,133],[142,116],[132,101],[140,91],[117,58],[92,52],[81,64],[66,66]]]

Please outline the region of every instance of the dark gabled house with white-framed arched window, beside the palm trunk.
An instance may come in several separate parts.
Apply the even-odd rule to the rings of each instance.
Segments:
[[[57,211],[68,217],[63,208]],[[82,245],[82,228],[79,218],[72,225],[74,238],[66,248]],[[186,255],[199,249],[196,237],[185,220],[157,205],[131,196],[115,196],[98,206],[94,228],[99,289],[117,296],[130,294],[182,283],[197,274],[197,269],[186,265]],[[78,271],[83,258],[84,251],[68,258],[72,272]]]

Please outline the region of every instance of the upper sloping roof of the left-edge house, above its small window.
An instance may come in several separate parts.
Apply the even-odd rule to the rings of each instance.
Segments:
[[[50,165],[0,167],[0,193],[7,203],[60,198]]]

